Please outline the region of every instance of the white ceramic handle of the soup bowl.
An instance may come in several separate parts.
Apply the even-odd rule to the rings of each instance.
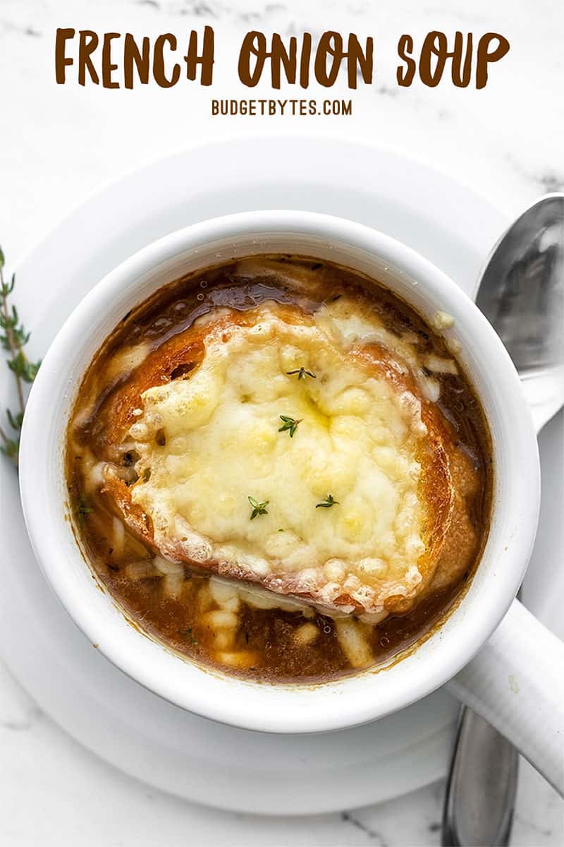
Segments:
[[[518,601],[448,688],[564,796],[564,641]]]

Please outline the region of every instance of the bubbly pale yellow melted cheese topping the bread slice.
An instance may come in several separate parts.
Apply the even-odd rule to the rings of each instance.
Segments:
[[[266,304],[251,323],[211,324],[200,366],[145,390],[131,492],[164,556],[345,612],[417,593],[426,427],[393,379],[413,347],[351,314],[339,301],[293,321]],[[401,356],[365,357],[375,343]],[[299,420],[293,437],[281,415]],[[318,507],[328,495],[337,504]],[[267,502],[253,520],[249,496]]]

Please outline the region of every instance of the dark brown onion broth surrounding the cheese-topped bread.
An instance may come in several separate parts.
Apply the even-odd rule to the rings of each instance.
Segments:
[[[262,268],[262,269],[261,269]],[[299,290],[285,279],[285,269],[303,274],[307,285]],[[151,545],[145,545],[128,530],[123,551],[114,543],[115,511],[98,491],[89,490],[85,456],[115,462],[107,438],[112,420],[108,408],[112,395],[123,385],[122,376],[108,378],[105,368],[120,349],[144,342],[156,350],[188,329],[196,318],[216,308],[241,311],[261,302],[297,304],[313,312],[321,302],[346,293],[368,298],[370,305],[394,333],[413,333],[418,352],[452,358],[445,340],[424,323],[411,307],[386,289],[346,268],[307,257],[261,257],[253,262],[233,262],[189,274],[168,285],[140,307],[125,315],[96,354],[78,392],[68,429],[67,476],[69,505],[80,544],[97,577],[136,625],[152,637],[198,662],[222,667],[232,673],[271,681],[319,681],[354,673],[337,637],[334,620],[309,610],[309,622],[319,634],[308,645],[297,645],[295,634],[306,620],[300,611],[258,609],[243,604],[238,628],[229,651],[249,656],[245,667],[218,662],[214,628],[205,623],[205,612],[213,609],[208,579],[198,568],[185,567],[183,587],[176,599],[165,595],[162,577],[132,579],[132,562],[150,564]],[[172,371],[170,378],[189,373],[187,361]],[[132,371],[134,374],[134,371]],[[457,505],[450,539],[441,553],[435,579],[415,608],[405,615],[391,615],[377,625],[360,624],[370,643],[373,666],[389,662],[441,625],[462,595],[474,573],[489,528],[491,501],[491,451],[487,424],[479,401],[462,368],[458,374],[437,374],[441,383],[438,406],[451,433],[457,456],[453,479]],[[468,461],[469,459],[469,461]],[[127,475],[134,457],[125,454]],[[133,477],[132,477],[133,479]]]

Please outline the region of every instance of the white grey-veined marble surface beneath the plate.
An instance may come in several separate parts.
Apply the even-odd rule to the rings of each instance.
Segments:
[[[206,23],[216,30],[211,90],[188,85],[101,91],[55,84],[57,26],[183,36]],[[211,97],[249,97],[234,68],[240,39],[253,27],[373,34],[375,84],[351,95],[350,117],[212,117]],[[448,83],[398,90],[397,37],[411,32],[417,39],[431,29],[497,30],[512,49],[491,70],[483,91]],[[512,0],[0,0],[3,249],[16,262],[57,219],[124,170],[197,141],[247,133],[377,141],[446,170],[515,213],[539,193],[564,190],[563,37],[561,0],[537,0],[519,14]],[[251,96],[269,94],[259,86]],[[345,95],[342,86],[331,91],[331,97]],[[281,96],[302,93],[288,87]],[[307,96],[327,95],[314,86]],[[0,750],[0,843],[14,847],[440,844],[441,783],[361,811],[306,818],[235,815],[160,794],[82,750],[3,665]],[[512,844],[556,847],[563,839],[564,805],[523,762]]]

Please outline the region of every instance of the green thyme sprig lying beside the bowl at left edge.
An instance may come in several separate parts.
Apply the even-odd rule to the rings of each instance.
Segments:
[[[14,292],[15,274],[9,282],[4,280],[5,258],[0,248],[0,345],[8,353],[8,368],[14,374],[19,411],[6,410],[6,417],[13,434],[8,435],[0,426],[0,451],[18,467],[19,436],[24,422],[25,398],[24,384],[30,385],[36,379],[41,362],[30,362],[24,347],[30,340],[30,333],[20,323],[18,310],[8,305],[8,297]]]

